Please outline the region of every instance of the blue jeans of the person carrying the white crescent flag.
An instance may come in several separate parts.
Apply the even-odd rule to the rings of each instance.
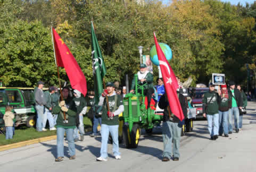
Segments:
[[[163,122],[163,157],[168,157],[169,159],[171,159],[172,151],[174,157],[179,157],[179,142],[181,129],[181,123],[174,123],[171,121]],[[174,142],[174,150],[172,150],[171,146],[172,141]]]

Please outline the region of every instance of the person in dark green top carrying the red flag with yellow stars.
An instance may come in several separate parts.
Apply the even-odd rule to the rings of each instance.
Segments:
[[[64,133],[68,140],[69,159],[76,158],[75,142],[73,139],[73,132],[76,128],[77,109],[72,97],[69,97],[69,88],[62,89],[63,99],[59,104],[53,107],[53,114],[58,114],[57,117],[57,158],[55,161],[62,161],[64,158]],[[64,120],[64,113],[66,120]]]

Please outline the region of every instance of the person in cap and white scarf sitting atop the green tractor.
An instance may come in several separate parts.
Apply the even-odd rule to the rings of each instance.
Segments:
[[[137,75],[137,84],[138,85],[143,85],[146,83],[144,87],[144,94],[147,96],[147,104],[150,106],[152,94],[154,93],[154,85],[153,85],[153,74],[150,73],[150,71],[146,70],[146,65],[141,64],[140,65],[140,70],[138,71]],[[135,76],[133,78],[133,82],[131,83],[131,89],[130,93],[133,93],[135,89]],[[138,90],[139,92],[141,90]]]

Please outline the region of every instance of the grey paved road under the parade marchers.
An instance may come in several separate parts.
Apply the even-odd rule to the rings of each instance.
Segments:
[[[195,121],[194,131],[181,138],[179,161],[161,161],[161,129],[154,129],[153,135],[142,135],[136,149],[121,144],[121,160],[114,159],[109,144],[108,161],[96,161],[101,138],[87,135],[76,143],[75,160],[68,159],[66,143],[64,160],[55,162],[56,140],[52,140],[0,152],[0,171],[256,171],[255,107],[249,102],[242,131],[216,141],[209,140],[207,121]]]

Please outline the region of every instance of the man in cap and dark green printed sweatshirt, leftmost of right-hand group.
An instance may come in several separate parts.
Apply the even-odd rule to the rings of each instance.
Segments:
[[[210,133],[210,139],[218,139],[219,134],[219,105],[220,102],[220,90],[218,94],[214,92],[214,85],[209,84],[209,92],[204,93],[203,96],[203,116],[207,117],[208,130]]]

